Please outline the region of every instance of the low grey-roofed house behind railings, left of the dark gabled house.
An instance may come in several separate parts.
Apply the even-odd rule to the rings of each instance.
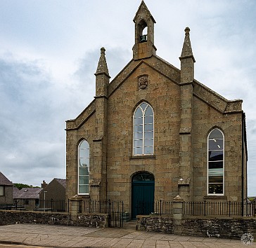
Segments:
[[[13,188],[13,202],[14,205],[20,209],[38,210],[39,193],[41,188]]]

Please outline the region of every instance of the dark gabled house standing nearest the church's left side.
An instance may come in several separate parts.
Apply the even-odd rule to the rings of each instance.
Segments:
[[[46,200],[46,205],[55,211],[65,209],[66,180],[54,178],[49,184],[43,181],[42,190],[39,193],[40,200]]]

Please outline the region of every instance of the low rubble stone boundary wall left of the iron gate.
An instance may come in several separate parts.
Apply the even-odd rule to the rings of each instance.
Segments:
[[[105,228],[108,227],[108,214],[78,214],[74,218],[69,213],[0,210],[0,226],[18,223]]]

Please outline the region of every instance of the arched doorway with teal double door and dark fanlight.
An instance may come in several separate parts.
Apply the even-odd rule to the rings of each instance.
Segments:
[[[154,211],[155,178],[148,172],[140,172],[132,177],[132,219],[138,214]]]

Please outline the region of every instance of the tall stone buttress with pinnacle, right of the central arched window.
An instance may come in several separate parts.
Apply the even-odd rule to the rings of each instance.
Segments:
[[[190,200],[193,182],[193,151],[192,151],[192,118],[193,118],[193,79],[194,63],[191,42],[189,39],[190,29],[185,29],[184,45],[181,51],[181,126],[179,130],[180,153],[179,153],[179,195],[184,200]]]

